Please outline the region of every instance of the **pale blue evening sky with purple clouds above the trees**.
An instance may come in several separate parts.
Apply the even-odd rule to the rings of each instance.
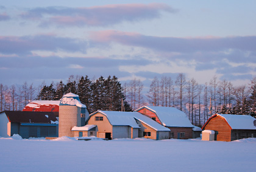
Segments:
[[[256,1],[2,1],[0,83],[256,76]]]

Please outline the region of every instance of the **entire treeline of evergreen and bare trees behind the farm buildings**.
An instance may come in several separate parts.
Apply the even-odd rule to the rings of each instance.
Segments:
[[[16,87],[0,84],[0,111],[22,110],[32,100],[60,100],[68,92],[78,94],[90,112],[97,110],[121,111],[123,100],[125,111],[134,111],[143,105],[168,106],[182,110],[190,121],[202,126],[215,113],[256,114],[256,77],[248,85],[233,86],[230,81],[213,77],[208,83],[199,84],[184,74],[171,77],[155,77],[148,91],[144,91],[141,80],[133,79],[121,86],[118,78],[71,75],[63,83],[51,83],[35,88],[26,82]]]

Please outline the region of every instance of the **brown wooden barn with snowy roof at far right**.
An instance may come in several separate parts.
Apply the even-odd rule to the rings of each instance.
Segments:
[[[256,137],[255,125],[256,119],[250,115],[216,114],[208,119],[202,129],[215,131],[215,140],[230,142]]]

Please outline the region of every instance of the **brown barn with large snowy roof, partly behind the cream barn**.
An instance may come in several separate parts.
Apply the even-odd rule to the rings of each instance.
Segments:
[[[187,115],[176,108],[143,106],[136,111],[171,129],[169,139],[191,139],[193,137],[192,129],[194,126],[191,124]]]

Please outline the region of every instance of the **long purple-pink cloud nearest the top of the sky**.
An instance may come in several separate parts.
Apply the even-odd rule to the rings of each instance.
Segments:
[[[159,18],[161,12],[176,13],[166,4],[113,4],[82,8],[44,7],[21,14],[24,19],[41,20],[40,26],[109,26],[123,21]]]

